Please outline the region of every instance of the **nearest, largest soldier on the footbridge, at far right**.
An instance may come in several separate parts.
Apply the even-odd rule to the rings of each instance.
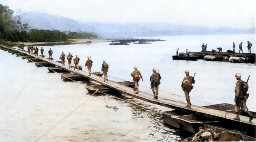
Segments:
[[[237,82],[235,84],[235,97],[234,97],[234,102],[235,102],[235,108],[234,111],[236,112],[237,116],[234,118],[234,120],[240,120],[239,118],[239,111],[240,111],[240,107],[241,109],[244,110],[244,112],[247,112],[249,114],[249,121],[253,120],[253,116],[248,108],[246,107],[246,100],[247,100],[247,90],[249,88],[247,82],[241,80],[241,74],[237,73],[235,75]],[[249,79],[249,78],[248,78]],[[248,94],[249,95],[249,94]]]

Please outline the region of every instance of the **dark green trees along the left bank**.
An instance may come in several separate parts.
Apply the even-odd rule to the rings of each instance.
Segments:
[[[59,30],[30,29],[22,24],[19,15],[13,16],[9,6],[0,4],[0,39],[12,42],[54,42],[67,41],[68,38],[98,38],[98,35],[87,32],[61,32]]]

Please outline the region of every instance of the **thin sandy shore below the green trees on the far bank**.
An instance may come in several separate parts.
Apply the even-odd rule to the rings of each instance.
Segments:
[[[92,38],[92,39],[68,39],[68,41],[60,41],[60,42],[15,42],[15,44],[25,44],[25,45],[38,45],[38,44],[86,44],[87,41],[92,41],[91,44],[97,42],[110,42],[111,40]]]

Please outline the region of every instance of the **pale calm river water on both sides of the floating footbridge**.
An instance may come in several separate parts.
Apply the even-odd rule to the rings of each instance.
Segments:
[[[176,61],[172,55],[176,50],[200,51],[201,44],[207,49],[222,47],[223,51],[236,51],[241,41],[246,49],[247,41],[253,44],[255,35],[185,35],[170,37],[145,37],[167,41],[152,44],[109,45],[109,42],[91,45],[60,45],[51,47],[52,57],[59,60],[62,51],[80,57],[84,67],[87,56],[93,60],[92,71],[101,71],[102,60],[109,64],[109,79],[132,81],[130,76],[136,65],[144,82],[139,89],[151,93],[149,77],[152,69],[160,70],[162,77],[159,96],[185,102],[180,87],[185,70],[196,72],[194,89],[190,93],[191,103],[198,106],[228,103],[234,104],[234,87],[237,72],[242,80],[249,80],[250,93],[247,107],[256,111],[255,65],[229,62]],[[41,46],[40,46],[41,47]],[[45,54],[48,46],[42,46]],[[244,52],[247,52],[244,50]],[[48,54],[46,54],[48,57]],[[72,62],[73,63],[73,62]],[[83,68],[87,71],[87,68]],[[0,51],[0,139],[14,141],[178,141],[182,133],[163,125],[158,111],[170,109],[152,105],[124,96],[118,100],[107,95],[89,96],[85,84],[62,82],[59,74],[47,73],[46,68],[37,68],[21,57]],[[170,98],[175,94],[175,98]],[[142,106],[142,107],[141,107]],[[149,106],[145,109],[143,106]]]

